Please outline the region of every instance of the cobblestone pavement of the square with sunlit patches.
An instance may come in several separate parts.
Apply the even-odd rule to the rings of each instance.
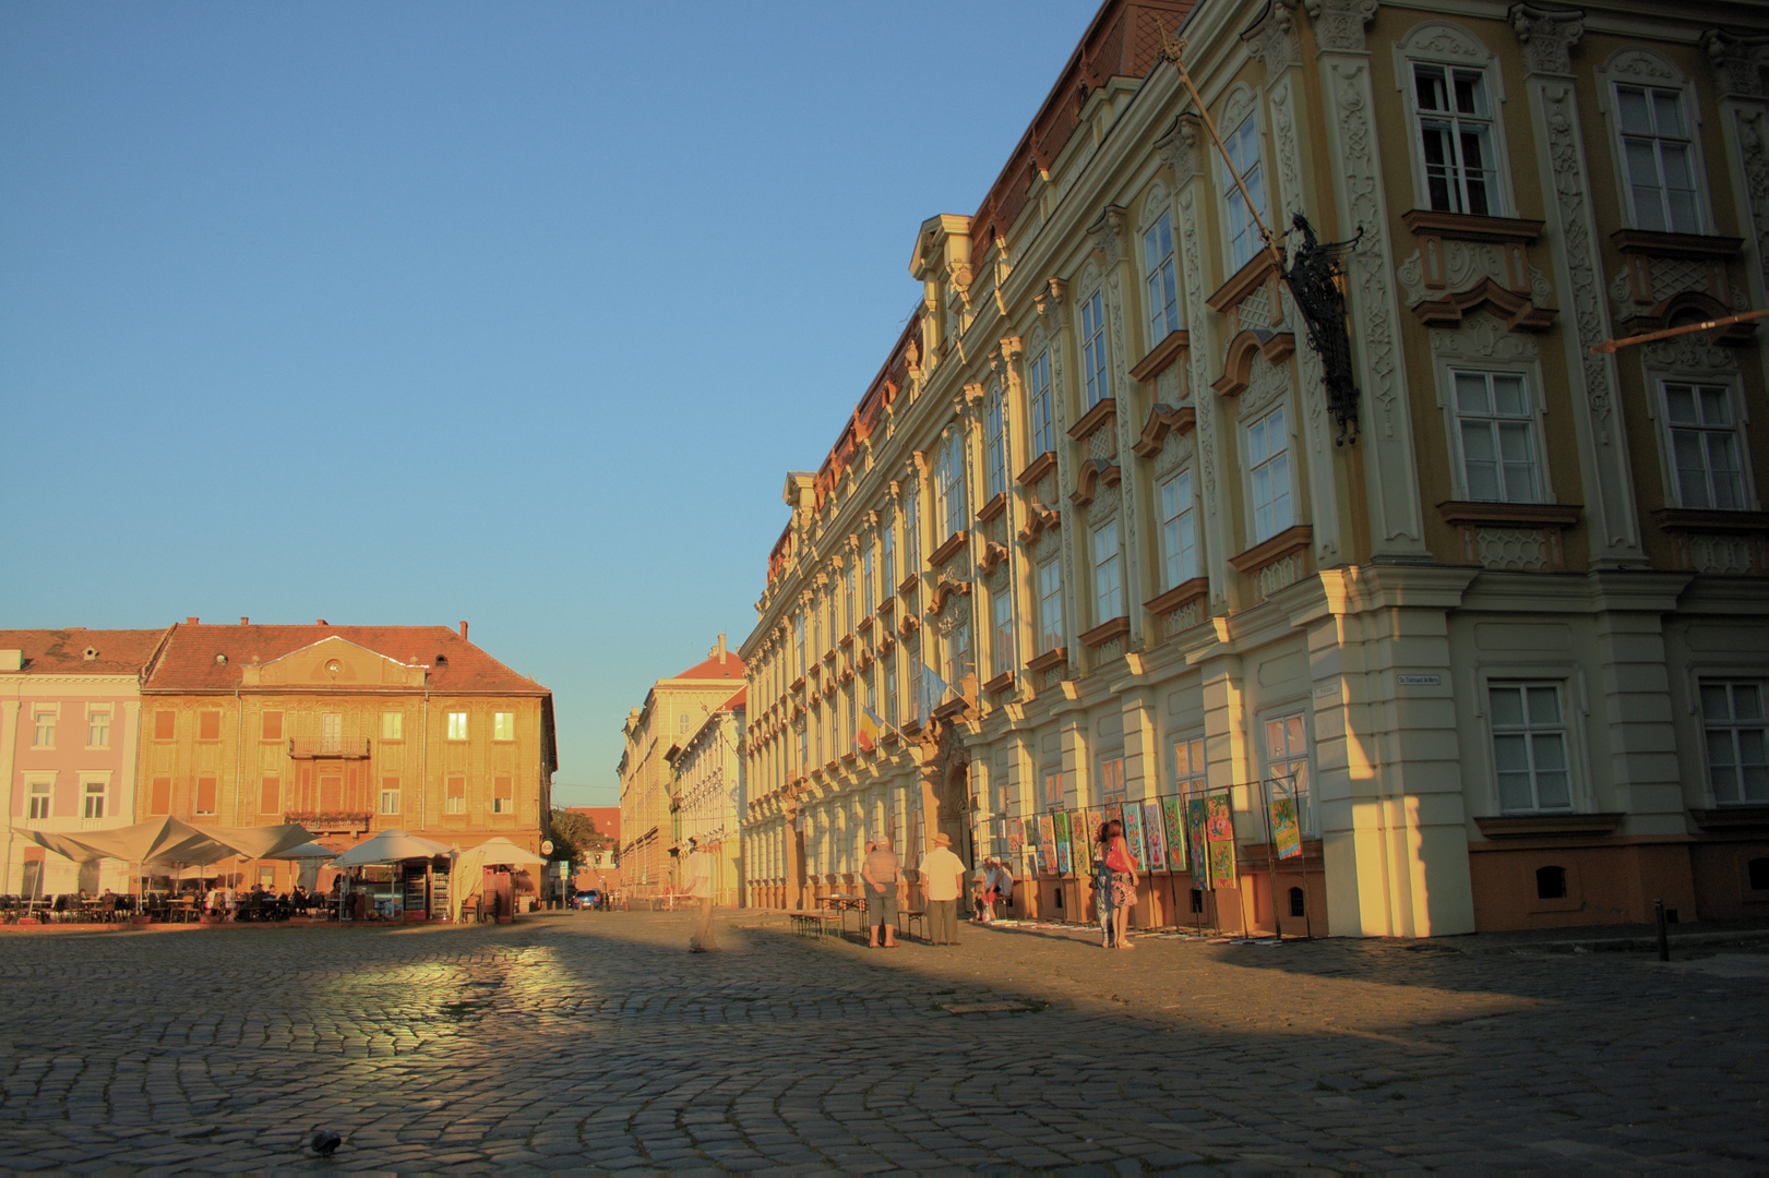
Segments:
[[[0,1167],[1769,1167],[1760,950],[686,934],[4,934]]]

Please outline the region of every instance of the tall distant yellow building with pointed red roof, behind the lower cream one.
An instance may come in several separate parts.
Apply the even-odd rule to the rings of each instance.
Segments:
[[[725,635],[704,662],[658,679],[633,708],[616,771],[621,778],[621,881],[628,897],[678,891],[674,769],[665,753],[686,741],[732,690],[743,686],[743,660]]]

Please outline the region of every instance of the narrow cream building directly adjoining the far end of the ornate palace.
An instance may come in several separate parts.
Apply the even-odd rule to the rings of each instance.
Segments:
[[[743,690],[720,704],[686,741],[667,753],[674,780],[674,853],[699,840],[713,856],[713,895],[718,904],[743,907],[743,840],[738,821],[745,807]]]

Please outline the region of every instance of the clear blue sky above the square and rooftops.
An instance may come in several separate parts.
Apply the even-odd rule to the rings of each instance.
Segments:
[[[455,624],[612,803],[1093,5],[0,7],[0,624]]]

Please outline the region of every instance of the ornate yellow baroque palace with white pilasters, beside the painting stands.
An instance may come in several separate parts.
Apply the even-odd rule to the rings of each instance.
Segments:
[[[1083,918],[1120,807],[1155,828],[1136,923],[1769,911],[1769,350],[1592,352],[1769,306],[1765,64],[1748,4],[1107,0],[787,476],[750,902],[946,831]],[[1254,212],[1357,239],[1355,421]],[[1176,853],[1168,798],[1228,822]]]

